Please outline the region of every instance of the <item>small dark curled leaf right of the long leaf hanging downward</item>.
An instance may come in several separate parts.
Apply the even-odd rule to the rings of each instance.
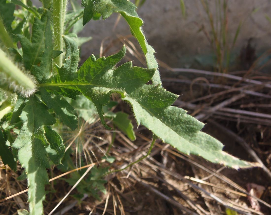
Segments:
[[[50,145],[46,147],[49,158],[55,165],[59,165],[65,153],[62,137],[54,131],[51,126],[44,126],[44,131],[45,137],[50,143]]]

